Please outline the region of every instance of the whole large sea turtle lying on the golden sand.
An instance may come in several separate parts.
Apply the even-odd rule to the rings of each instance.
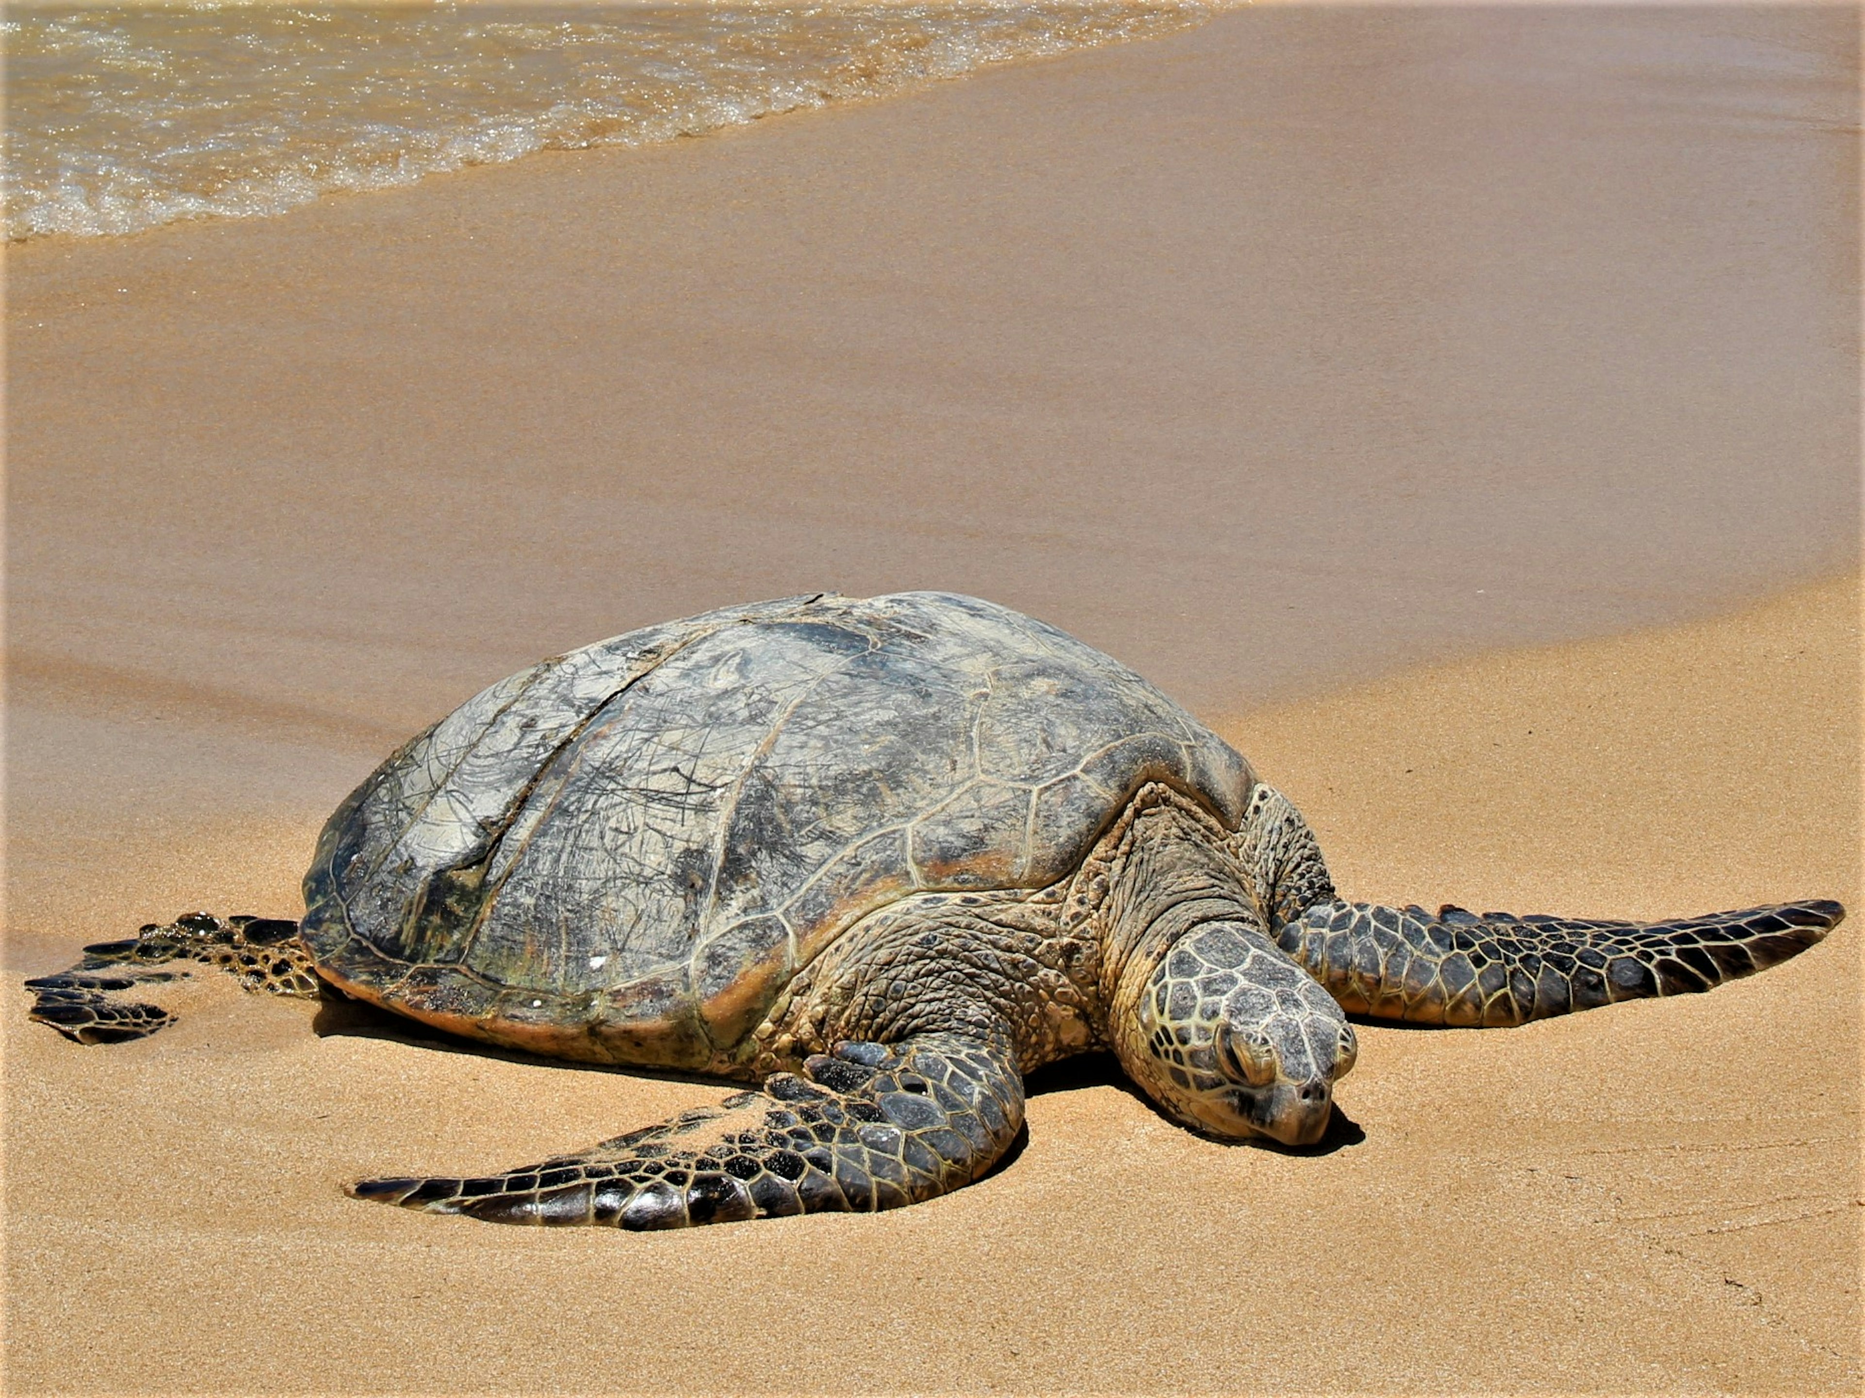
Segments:
[[[759,1083],[481,1178],[358,1199],[668,1228],[942,1195],[1024,1074],[1112,1049],[1194,1130],[1319,1143],[1348,1014],[1518,1025],[1708,990],[1818,941],[1807,900],[1667,923],[1341,900],[1294,807],[1082,641],[942,593],[794,596],[545,660],[325,826],[302,923],[183,915],[28,982],[78,1042],[181,958],[556,1059]]]

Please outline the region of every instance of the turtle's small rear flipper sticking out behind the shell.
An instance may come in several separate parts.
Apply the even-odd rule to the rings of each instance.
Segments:
[[[50,1025],[75,1044],[125,1044],[166,1029],[170,1010],[134,995],[177,977],[172,962],[207,962],[239,977],[246,990],[315,999],[311,958],[298,943],[298,925],[278,917],[183,913],[149,923],[125,941],[99,941],[69,971],[26,982],[34,997],[28,1020]],[[186,975],[181,971],[179,975]]]

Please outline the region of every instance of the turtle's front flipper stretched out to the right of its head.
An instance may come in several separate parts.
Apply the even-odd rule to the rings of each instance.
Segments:
[[[1805,951],[1841,917],[1826,898],[1665,923],[1328,900],[1276,939],[1350,1014],[1499,1027],[1710,990]]]

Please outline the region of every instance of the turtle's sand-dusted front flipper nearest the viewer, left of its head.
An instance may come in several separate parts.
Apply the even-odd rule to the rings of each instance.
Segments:
[[[802,1076],[681,1113],[574,1156],[476,1180],[364,1180],[356,1199],[492,1223],[684,1228],[785,1213],[867,1213],[972,1184],[1024,1120],[1005,1044],[916,1035],[841,1044]]]

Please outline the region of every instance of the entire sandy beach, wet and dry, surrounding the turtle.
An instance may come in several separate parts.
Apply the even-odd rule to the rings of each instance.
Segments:
[[[295,915],[328,811],[468,693],[819,589],[1110,651],[1352,897],[1858,910],[1854,28],[1238,13],[9,246],[9,975]],[[1856,915],[1706,997],[1365,1027],[1332,1154],[1097,1059],[957,1195],[668,1236],[339,1186],[716,1085],[205,979],[108,1049],[0,1003],[9,1392],[1861,1383]]]

